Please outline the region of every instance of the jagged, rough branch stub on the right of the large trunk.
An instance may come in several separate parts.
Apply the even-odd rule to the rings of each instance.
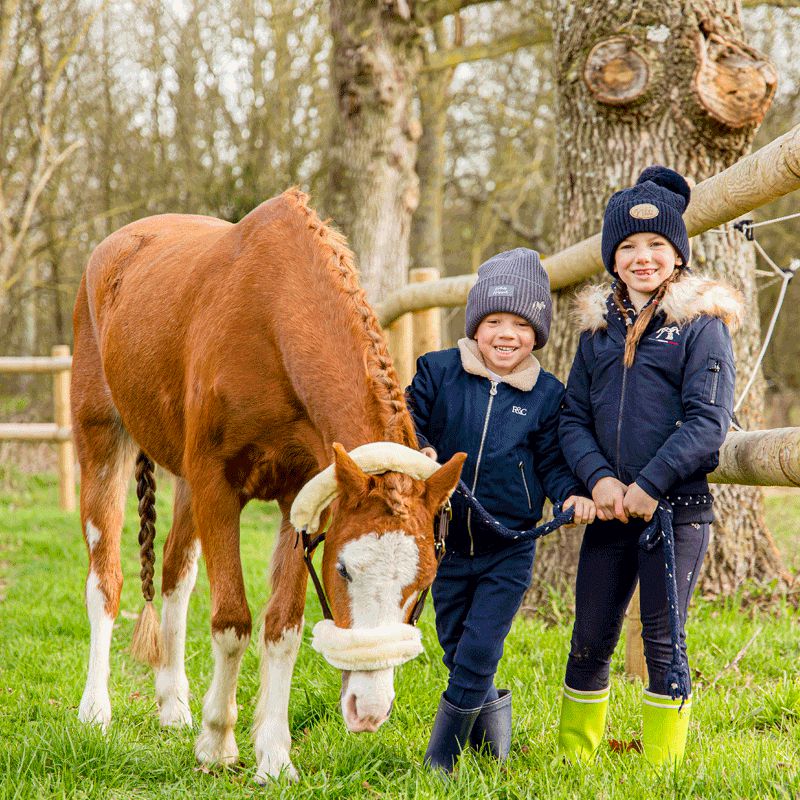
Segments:
[[[712,33],[697,36],[692,79],[700,104],[729,128],[758,125],[772,103],[778,74],[769,59],[744,42]]]

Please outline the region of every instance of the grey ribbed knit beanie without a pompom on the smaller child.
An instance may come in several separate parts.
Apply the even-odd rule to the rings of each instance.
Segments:
[[[478,280],[467,295],[467,336],[473,339],[481,320],[499,312],[517,314],[530,322],[536,333],[534,350],[547,344],[553,301],[550,278],[535,250],[507,250],[478,268]]]

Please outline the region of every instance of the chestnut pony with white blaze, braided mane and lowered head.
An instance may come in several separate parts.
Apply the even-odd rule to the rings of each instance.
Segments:
[[[295,778],[288,702],[308,579],[289,520],[295,496],[334,464],[338,497],[324,511],[332,521],[322,559],[329,625],[340,634],[385,634],[409,627],[413,600],[433,580],[433,518],[458,481],[463,456],[426,480],[399,471],[368,475],[348,456],[379,441],[416,449],[416,438],[352,253],[296,189],[235,225],[167,214],[113,233],[89,260],[74,326],[72,413],[91,626],[79,717],[103,727],[111,719],[109,648],[122,587],[123,506],[136,460],[148,602],[134,644],[155,668],[165,726],[192,723],[186,614],[198,557],[205,557],[214,674],[195,745],[204,763],[238,758],[236,683],[251,633],[239,516],[253,498],[277,500],[283,520],[259,636],[253,733],[257,779],[282,770]],[[152,462],[176,476],[160,631],[149,602]],[[149,643],[148,623],[156,626]],[[370,636],[365,641],[360,646],[369,650]],[[350,730],[377,730],[388,717],[393,666],[407,657],[343,671]]]

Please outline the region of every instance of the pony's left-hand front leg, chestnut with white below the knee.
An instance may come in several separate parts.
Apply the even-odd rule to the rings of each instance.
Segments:
[[[212,474],[208,470],[204,477]],[[233,735],[238,717],[236,684],[252,627],[239,554],[241,504],[220,475],[214,485],[193,483],[192,507],[211,587],[214,654],[214,676],[203,699],[202,729],[194,752],[203,764],[234,764],[239,758]]]

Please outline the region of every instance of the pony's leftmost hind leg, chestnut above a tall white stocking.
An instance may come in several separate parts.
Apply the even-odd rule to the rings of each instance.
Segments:
[[[81,523],[89,551],[86,609],[91,628],[89,670],[78,718],[105,729],[111,720],[111,632],[122,591],[120,535],[135,448],[116,420],[105,424],[94,420],[91,427],[76,433],[80,443]]]

